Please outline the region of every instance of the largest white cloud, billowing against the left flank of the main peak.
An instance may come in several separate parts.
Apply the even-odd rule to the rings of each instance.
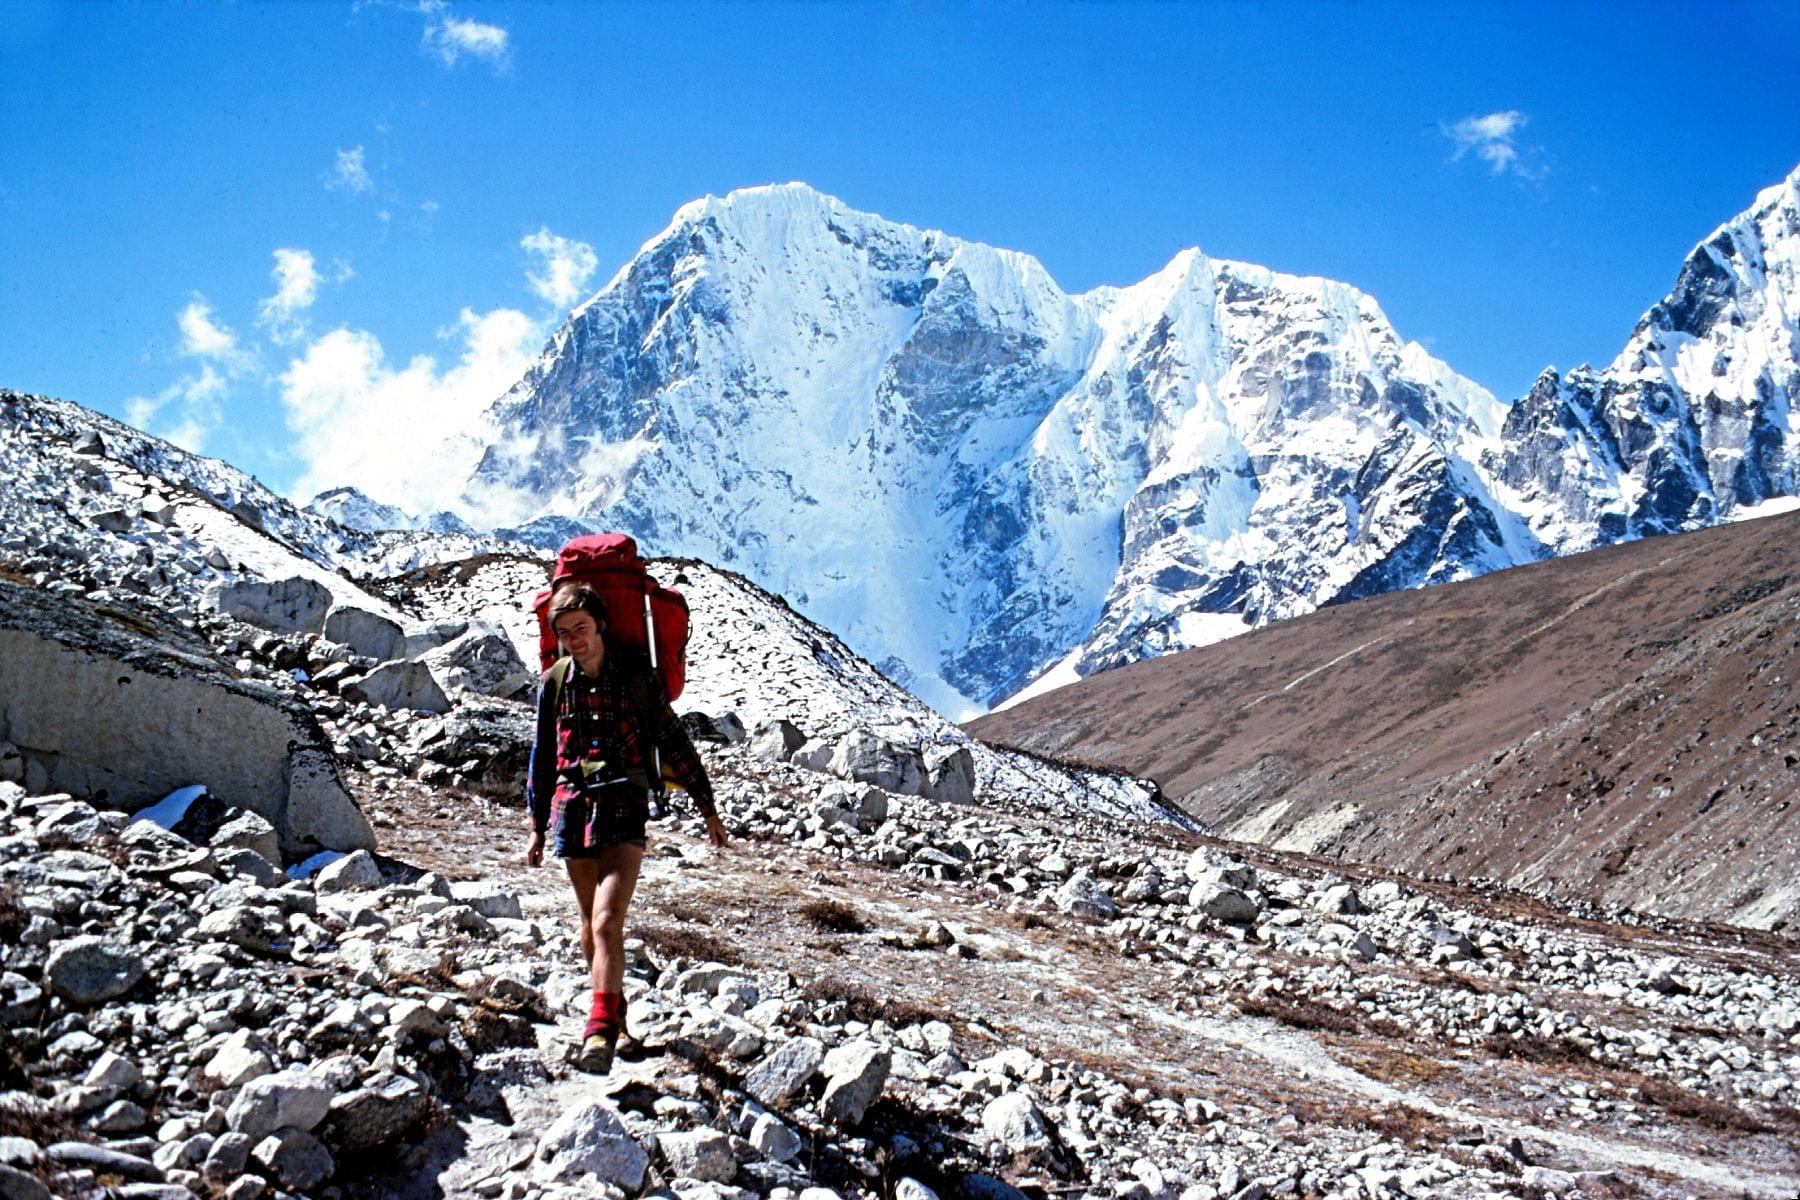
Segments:
[[[463,509],[488,407],[531,365],[544,329],[509,308],[463,309],[457,362],[389,363],[365,329],[333,329],[281,374],[281,401],[306,473],[293,495],[355,486],[412,513]]]

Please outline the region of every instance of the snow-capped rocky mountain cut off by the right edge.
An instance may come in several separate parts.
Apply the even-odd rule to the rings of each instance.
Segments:
[[[1544,374],[1485,455],[1557,554],[1795,493],[1800,169],[1701,241],[1604,371]]]

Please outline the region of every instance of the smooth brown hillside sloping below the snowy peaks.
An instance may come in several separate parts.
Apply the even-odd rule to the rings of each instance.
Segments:
[[[1327,608],[970,730],[1215,829],[1782,928],[1800,912],[1800,515]]]

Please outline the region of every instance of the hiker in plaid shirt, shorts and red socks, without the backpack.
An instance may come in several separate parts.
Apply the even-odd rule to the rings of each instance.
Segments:
[[[565,658],[538,687],[538,734],[526,793],[531,844],[526,864],[544,864],[554,833],[581,919],[581,955],[594,975],[594,1002],[574,1063],[605,1074],[625,1033],[625,910],[644,862],[650,795],[668,770],[700,808],[713,846],[725,826],[713,806],[706,766],[670,709],[648,660],[607,644],[607,608],[583,583],[551,594],[549,624]]]

